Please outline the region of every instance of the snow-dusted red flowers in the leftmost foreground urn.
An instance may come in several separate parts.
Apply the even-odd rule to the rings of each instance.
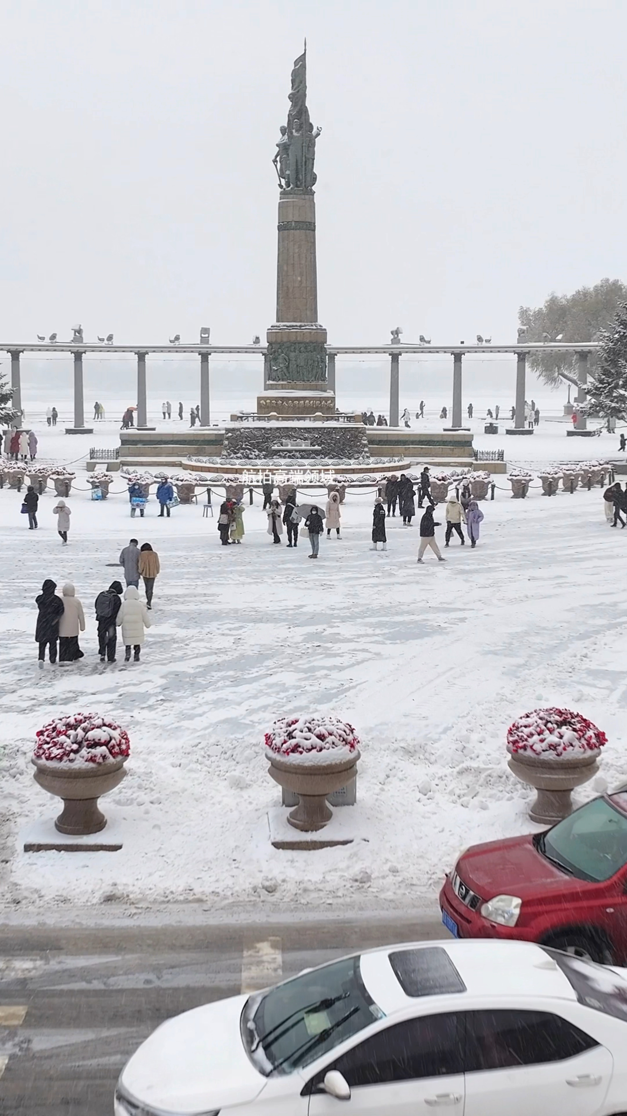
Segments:
[[[49,721],[36,733],[32,753],[47,763],[108,763],[131,752],[128,733],[99,713],[73,713]]]

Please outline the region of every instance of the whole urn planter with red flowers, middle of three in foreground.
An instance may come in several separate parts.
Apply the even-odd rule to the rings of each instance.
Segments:
[[[295,829],[322,829],[331,818],[327,796],[357,776],[359,739],[337,716],[281,716],[266,733],[266,757],[274,782],[299,796],[288,815]]]

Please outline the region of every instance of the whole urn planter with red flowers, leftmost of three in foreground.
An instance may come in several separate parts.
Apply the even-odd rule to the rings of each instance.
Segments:
[[[122,782],[129,751],[126,730],[98,713],[74,713],[39,729],[33,778],[64,800],[55,821],[59,833],[79,836],[105,828],[98,798]]]

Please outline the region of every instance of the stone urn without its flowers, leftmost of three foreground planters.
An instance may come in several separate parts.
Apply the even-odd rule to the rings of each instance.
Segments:
[[[35,781],[49,795],[64,800],[64,809],[55,821],[59,833],[80,836],[105,828],[107,819],[98,809],[98,798],[122,782],[126,775],[126,757],[81,767],[37,759],[31,762],[36,768]]]

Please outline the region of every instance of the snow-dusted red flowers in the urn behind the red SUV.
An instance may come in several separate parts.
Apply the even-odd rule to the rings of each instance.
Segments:
[[[560,757],[585,756],[607,744],[605,732],[569,709],[534,709],[508,729],[512,753]]]

